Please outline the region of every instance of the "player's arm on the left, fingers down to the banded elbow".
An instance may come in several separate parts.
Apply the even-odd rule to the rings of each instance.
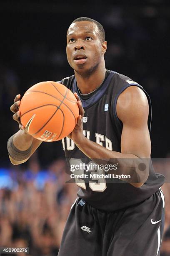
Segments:
[[[12,156],[9,155],[10,161],[14,165],[25,163],[30,156],[35,152],[35,150],[40,146],[42,141],[39,141],[35,138],[33,138],[31,135],[29,135],[25,129],[25,127],[20,123],[20,111],[19,111],[19,105],[20,105],[20,95],[17,95],[14,100],[14,104],[10,107],[10,110],[14,113],[13,120],[17,121],[19,124],[20,131],[15,133],[13,138],[10,138],[7,148],[8,151],[10,151],[11,143],[13,143],[13,148],[20,151],[27,151],[27,157],[23,160],[17,160],[17,152],[15,154],[15,159],[13,159]]]

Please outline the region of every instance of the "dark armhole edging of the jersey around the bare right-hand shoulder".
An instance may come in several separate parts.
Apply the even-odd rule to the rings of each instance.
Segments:
[[[122,121],[118,118],[117,112],[116,112],[117,99],[118,99],[119,95],[120,95],[126,88],[128,88],[128,87],[130,87],[130,86],[138,86],[140,89],[143,90],[143,92],[145,92],[145,95],[146,95],[146,97],[147,97],[147,99],[148,99],[148,104],[149,104],[148,129],[149,129],[149,133],[150,133],[150,131],[151,131],[151,122],[152,122],[152,105],[151,105],[151,101],[150,101],[150,97],[149,97],[148,93],[143,89],[143,87],[142,87],[140,84],[137,84],[137,83],[135,83],[135,84],[127,84],[127,85],[125,85],[125,86],[118,92],[117,96],[115,97],[115,102],[114,102],[114,105],[113,105],[113,108],[114,108],[113,111],[114,111],[114,113],[115,113],[115,116],[116,116],[118,122],[120,123],[120,125],[122,125]]]

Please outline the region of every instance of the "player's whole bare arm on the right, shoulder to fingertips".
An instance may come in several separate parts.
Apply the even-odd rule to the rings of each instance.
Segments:
[[[84,114],[80,99],[77,95],[78,105],[81,115]],[[121,153],[110,151],[95,142],[88,140],[82,135],[82,118],[79,116],[78,123],[70,138],[75,142],[77,147],[90,159],[122,159],[127,166],[129,159],[136,159],[138,162],[141,158],[149,159],[151,151],[150,136],[148,131],[148,99],[145,93],[136,86],[128,87],[117,100],[117,116],[123,123],[121,136]],[[126,164],[126,163],[125,163]],[[138,170],[136,170],[138,171]],[[128,173],[124,173],[128,174]],[[139,174],[139,173],[138,173]],[[145,173],[140,172],[140,182],[130,182],[134,187],[141,187],[148,179],[149,168]]]

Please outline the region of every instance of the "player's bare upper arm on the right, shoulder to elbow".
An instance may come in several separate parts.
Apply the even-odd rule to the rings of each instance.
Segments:
[[[121,152],[150,158],[149,106],[145,92],[136,86],[128,87],[118,98],[116,111],[123,123]]]

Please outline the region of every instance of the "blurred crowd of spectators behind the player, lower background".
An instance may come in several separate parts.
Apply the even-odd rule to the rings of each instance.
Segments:
[[[65,184],[64,159],[40,170],[35,156],[25,170],[12,165],[0,169],[0,247],[29,247],[30,256],[56,256],[78,188]],[[161,166],[164,168],[165,163],[157,161],[155,167]],[[170,183],[162,189],[166,211],[161,256],[170,256]]]

